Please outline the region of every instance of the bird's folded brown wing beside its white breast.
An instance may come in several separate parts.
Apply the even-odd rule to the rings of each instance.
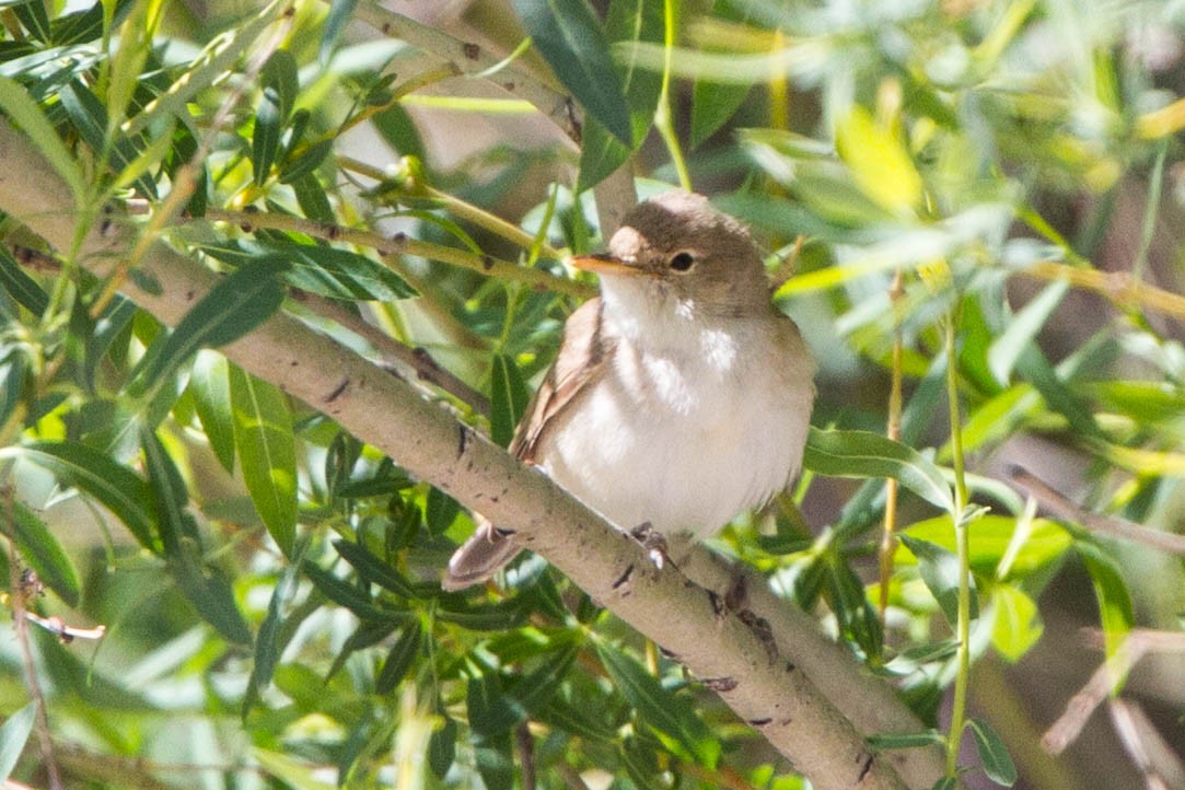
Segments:
[[[601,336],[601,298],[590,298],[569,316],[556,361],[531,399],[510,450],[533,463],[552,419],[574,402],[611,353]]]

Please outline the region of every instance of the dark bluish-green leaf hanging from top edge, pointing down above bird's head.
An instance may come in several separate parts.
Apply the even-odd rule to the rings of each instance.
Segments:
[[[629,105],[609,41],[585,0],[513,0],[531,43],[559,82],[614,137],[633,144]]]

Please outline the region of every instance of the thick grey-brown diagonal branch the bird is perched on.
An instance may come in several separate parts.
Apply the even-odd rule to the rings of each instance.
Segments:
[[[57,249],[75,238],[73,197],[62,178],[23,135],[0,123],[0,210],[25,223]],[[135,229],[101,220],[85,236],[81,265],[102,276],[135,242]],[[175,325],[214,283],[216,275],[164,243],[143,258],[143,277],[129,278],[126,294],[168,325]],[[141,284],[152,283],[152,290]],[[523,467],[501,448],[424,400],[391,375],[288,315],[276,315],[250,335],[222,348],[244,370],[282,387],[389,454],[411,474],[448,492],[538,552],[617,617],[678,657],[716,689],[743,720],[757,728],[820,790],[904,790],[897,754],[875,753],[860,730],[811,680],[835,675],[832,687],[859,675],[852,660],[826,640],[805,615],[796,636],[777,640],[780,655],[751,619],[720,605],[672,564],[655,569],[632,538],[568,496],[544,475]],[[766,602],[787,606],[784,602]],[[799,642],[813,646],[808,650]],[[814,655],[812,655],[814,654]],[[831,666],[831,661],[837,663]],[[820,663],[821,662],[821,663]],[[808,676],[809,675],[809,676]],[[890,705],[891,694],[865,704]],[[904,711],[892,701],[896,709]],[[870,714],[871,715],[871,714]],[[909,720],[908,712],[901,720]],[[924,753],[924,752],[922,752]],[[909,784],[929,786],[937,775],[929,759],[908,764]],[[941,771],[940,771],[941,773]]]

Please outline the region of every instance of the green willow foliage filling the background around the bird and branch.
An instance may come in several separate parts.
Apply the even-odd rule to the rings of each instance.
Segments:
[[[505,444],[592,290],[559,264],[601,244],[585,187],[633,152],[643,194],[709,193],[792,263],[775,298],[821,361],[814,424],[891,430],[897,372],[899,436],[918,450],[878,468],[816,444],[801,518],[744,519],[715,547],[816,612],[940,740],[962,685],[1016,786],[1180,786],[1179,560],[1100,535],[1089,514],[1033,519],[1006,484],[1020,464],[1090,513],[1180,528],[1179,4],[397,11],[0,8],[0,108],[73,186],[79,227],[134,224],[229,275],[225,301],[169,334],[115,296],[135,250],[103,282],[2,226],[4,578],[27,587],[31,566],[49,591],[26,605],[107,629],[97,646],[52,624],[2,641],[14,778],[502,788],[530,781],[513,767],[530,744],[542,786],[579,772],[799,786],[542,561],[506,595],[441,596],[467,513],[217,352],[193,354],[276,309],[386,361],[395,338],[455,374],[434,397]],[[965,464],[987,515],[950,486]],[[896,551],[882,628],[886,469],[915,542]],[[949,502],[912,493],[910,470],[940,475]],[[967,516],[961,532],[943,509]],[[959,534],[978,600],[969,676],[952,640]],[[1122,691],[1050,757],[1040,733],[1104,654]],[[47,726],[26,707],[30,675]],[[969,737],[952,749],[981,759]],[[987,775],[966,782],[1008,778]]]

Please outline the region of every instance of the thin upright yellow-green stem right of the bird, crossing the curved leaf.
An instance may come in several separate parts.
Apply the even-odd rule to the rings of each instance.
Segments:
[[[955,353],[955,322],[957,308],[952,308],[946,320],[947,400],[950,406],[950,449],[955,473],[955,550],[959,558],[959,672],[955,675],[955,695],[950,705],[950,731],[947,736],[947,776],[959,772],[959,744],[967,718],[967,680],[971,675],[971,544],[963,512],[967,509],[967,479],[963,468],[962,419],[959,413],[959,373]]]

